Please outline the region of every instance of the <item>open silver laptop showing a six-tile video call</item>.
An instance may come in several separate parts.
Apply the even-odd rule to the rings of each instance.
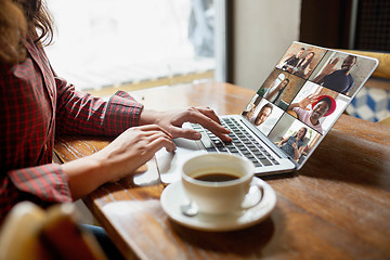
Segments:
[[[245,156],[258,177],[299,170],[377,65],[376,58],[292,42],[243,113],[220,117],[233,141],[184,123],[202,139],[176,139],[174,153],[156,153],[161,181],[180,180],[182,164],[204,153]]]

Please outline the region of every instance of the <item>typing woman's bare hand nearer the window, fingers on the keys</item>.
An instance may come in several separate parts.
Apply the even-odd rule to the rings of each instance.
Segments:
[[[182,125],[186,121],[202,125],[214,133],[222,141],[232,141],[232,139],[226,135],[230,133],[230,131],[221,126],[218,116],[209,107],[188,107],[185,109],[174,109],[167,112],[144,109],[141,113],[139,123],[155,123],[169,132],[173,139],[185,138],[191,140],[199,140],[202,135],[198,131],[190,128],[182,128]]]

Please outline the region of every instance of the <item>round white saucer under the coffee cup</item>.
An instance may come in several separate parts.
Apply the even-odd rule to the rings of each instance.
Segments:
[[[264,181],[253,178],[253,182],[263,188],[263,197],[252,208],[223,216],[198,213],[194,217],[184,216],[180,206],[187,205],[181,181],[169,184],[162,192],[160,202],[164,211],[176,222],[187,227],[202,231],[233,231],[257,224],[264,220],[276,206],[275,191]],[[258,199],[258,198],[251,198]]]

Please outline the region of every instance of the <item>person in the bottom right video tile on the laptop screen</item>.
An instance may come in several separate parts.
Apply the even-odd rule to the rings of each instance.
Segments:
[[[281,142],[277,143],[277,146],[280,146],[291,158],[298,160],[306,147],[303,140],[307,132],[308,129],[302,127],[296,134],[282,139]]]

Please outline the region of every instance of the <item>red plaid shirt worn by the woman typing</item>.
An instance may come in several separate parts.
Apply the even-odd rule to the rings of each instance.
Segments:
[[[54,74],[28,39],[21,64],[0,62],[0,223],[13,205],[72,202],[68,178],[52,164],[55,134],[117,135],[136,126],[142,104],[118,92],[108,102],[81,94]]]

